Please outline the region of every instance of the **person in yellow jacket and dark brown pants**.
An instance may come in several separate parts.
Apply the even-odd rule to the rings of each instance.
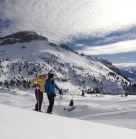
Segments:
[[[44,91],[44,85],[46,80],[47,74],[39,75],[37,78],[31,80],[31,84],[33,87],[36,87],[35,90],[35,97],[37,100],[37,103],[35,104],[35,111],[41,111],[42,101],[43,101],[43,91]]]

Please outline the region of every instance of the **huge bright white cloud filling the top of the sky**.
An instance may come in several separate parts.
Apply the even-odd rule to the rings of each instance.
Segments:
[[[104,36],[136,23],[135,0],[4,0],[0,18],[12,21],[2,35],[33,30],[55,42]]]

